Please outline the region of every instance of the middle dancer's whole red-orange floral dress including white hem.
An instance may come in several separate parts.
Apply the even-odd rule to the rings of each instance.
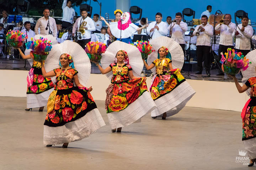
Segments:
[[[111,85],[106,90],[106,109],[111,128],[120,128],[134,123],[155,108],[146,86],[145,78],[130,80],[129,64],[122,67],[117,63],[110,64],[113,77]],[[152,102],[151,102],[152,101]],[[146,106],[142,104],[146,103]]]

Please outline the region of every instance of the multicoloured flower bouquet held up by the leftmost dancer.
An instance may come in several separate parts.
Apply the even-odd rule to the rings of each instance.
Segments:
[[[27,39],[27,35],[24,35],[19,30],[12,30],[6,34],[7,43],[13,47],[21,47],[25,39]]]

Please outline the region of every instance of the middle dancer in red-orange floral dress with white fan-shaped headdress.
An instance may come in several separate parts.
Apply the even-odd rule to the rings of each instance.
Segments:
[[[122,48],[122,45],[128,46],[128,48],[131,47],[136,52],[138,50],[132,45],[115,41],[108,47],[101,60],[104,60],[104,55],[107,55],[108,50],[111,51],[112,47]],[[140,56],[139,50],[138,55]],[[116,62],[111,63],[106,69],[103,69],[97,62],[95,63],[102,74],[111,71],[113,73],[111,84],[106,90],[107,97],[105,108],[107,109],[108,120],[112,132],[116,132],[116,128],[117,132],[121,132],[122,127],[136,122],[145,114],[151,112],[155,108],[155,103],[147,90],[146,78],[138,78],[134,76],[132,67],[129,65],[127,52],[124,50],[117,50],[115,58]],[[136,56],[134,58],[138,57]],[[104,65],[104,61],[101,61],[101,63]],[[140,65],[139,63],[137,64]],[[141,70],[139,70],[139,73],[140,72]]]

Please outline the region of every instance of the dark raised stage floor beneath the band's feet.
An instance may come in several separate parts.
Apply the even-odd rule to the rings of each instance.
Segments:
[[[96,66],[95,66],[96,67]],[[0,70],[1,69],[19,69],[19,70],[30,70],[31,66],[28,62],[26,62],[25,64],[25,60],[20,59],[20,60],[12,60],[12,59],[0,59]],[[92,68],[92,70],[98,70],[98,68]],[[190,72],[190,74],[188,74],[188,72],[183,72],[182,75],[186,78],[186,79],[192,79],[192,80],[209,80],[209,81],[225,81],[225,82],[234,82],[234,80],[230,77],[228,77],[227,75],[225,76],[217,76],[218,74],[218,70],[217,69],[213,69],[210,71],[211,73],[211,77],[206,77],[206,72],[205,70],[203,70],[202,75],[198,75],[195,74],[197,72],[197,70],[193,70],[193,72]],[[151,74],[151,72],[149,73],[149,75]],[[146,75],[146,76],[149,76]],[[241,82],[241,75],[237,74],[236,78],[238,79],[239,82]]]

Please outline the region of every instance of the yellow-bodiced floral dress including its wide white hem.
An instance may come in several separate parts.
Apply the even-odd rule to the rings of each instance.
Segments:
[[[156,59],[153,64],[156,74],[152,79],[150,93],[157,108],[151,112],[152,117],[166,117],[177,114],[195,94],[192,87],[180,73],[180,69],[169,70],[169,58]]]

